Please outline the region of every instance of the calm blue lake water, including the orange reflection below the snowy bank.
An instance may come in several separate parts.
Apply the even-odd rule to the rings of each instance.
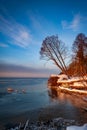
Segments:
[[[65,118],[87,120],[84,96],[48,92],[47,78],[0,78],[0,121],[10,115],[44,109],[43,113]],[[7,89],[12,88],[13,92]],[[3,121],[2,121],[3,122]]]

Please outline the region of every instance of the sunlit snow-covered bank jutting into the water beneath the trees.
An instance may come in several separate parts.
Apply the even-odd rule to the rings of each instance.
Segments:
[[[48,80],[48,87],[55,87],[57,91],[78,93],[87,95],[87,76],[68,78],[65,74],[51,75]]]

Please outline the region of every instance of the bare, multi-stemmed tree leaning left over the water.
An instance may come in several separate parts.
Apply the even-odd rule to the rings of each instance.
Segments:
[[[40,49],[41,58],[53,61],[65,74],[67,74],[67,67],[65,64],[66,52],[65,44],[58,39],[58,36],[54,35],[46,37]]]

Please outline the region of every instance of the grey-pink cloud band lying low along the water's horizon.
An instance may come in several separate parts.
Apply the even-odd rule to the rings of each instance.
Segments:
[[[57,70],[35,67],[33,68],[7,63],[0,64],[0,77],[49,77],[49,75],[52,73],[57,73]]]

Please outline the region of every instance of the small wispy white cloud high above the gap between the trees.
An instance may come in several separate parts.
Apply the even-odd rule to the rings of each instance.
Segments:
[[[70,22],[66,20],[63,20],[61,22],[63,29],[71,29],[73,31],[79,29],[80,23],[81,23],[81,16],[79,14],[74,15],[73,19]]]

